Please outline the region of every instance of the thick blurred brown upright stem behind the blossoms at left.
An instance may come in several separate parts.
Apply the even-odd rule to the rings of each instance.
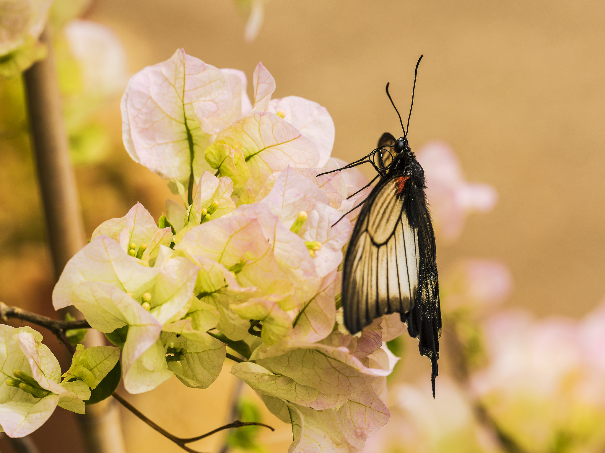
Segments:
[[[57,72],[48,27],[40,40],[47,46],[46,59],[24,72],[31,144],[36,156],[38,179],[47,223],[47,238],[53,259],[55,281],[68,260],[85,245],[85,233],[71,168],[69,144],[62,116]],[[73,313],[82,317],[81,313]],[[64,333],[63,331],[60,331]],[[96,330],[88,333],[88,345],[105,343]],[[67,342],[66,346],[71,345]],[[77,416],[88,453],[125,453],[119,413],[108,402],[89,406]]]

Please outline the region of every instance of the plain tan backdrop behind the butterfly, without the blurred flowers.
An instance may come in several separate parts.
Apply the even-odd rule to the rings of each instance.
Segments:
[[[414,63],[424,54],[411,146],[445,140],[469,181],[491,184],[500,196],[494,211],[469,218],[457,242],[438,244],[440,269],[459,257],[502,259],[515,285],[507,304],[537,315],[579,317],[605,294],[603,1],[271,0],[252,44],[243,42],[245,21],[230,0],[98,0],[87,18],[116,31],[132,73],[178,47],[219,68],[243,69],[250,80],[262,61],[276,79],[275,97],[299,95],[327,107],[336,124],[333,155],[348,161],[372,149],[385,130],[399,133],[384,85],[391,82],[407,111]],[[104,173],[77,172],[89,234],[136,201],[157,217],[170,196],[165,182],[126,156],[119,100],[105,116],[115,150]],[[116,162],[130,172],[128,185],[113,179]],[[19,266],[39,268],[39,281],[47,281],[44,256],[27,253],[21,251],[30,260]],[[10,282],[21,270],[3,263],[3,281]],[[50,300],[45,284],[31,286],[39,300]],[[7,291],[2,297],[10,303],[16,290]],[[420,370],[411,374],[428,376],[428,361],[414,364]],[[197,435],[226,417],[234,384],[227,371],[207,391],[171,379],[131,400],[169,431]],[[66,427],[74,432],[73,420],[57,417],[36,434],[39,443]],[[280,429],[263,439],[272,451],[286,451],[290,429],[272,416],[266,421]],[[125,423],[129,453],[181,451],[130,414]],[[216,436],[194,447],[218,451],[220,443]],[[63,435],[41,447],[80,451]]]

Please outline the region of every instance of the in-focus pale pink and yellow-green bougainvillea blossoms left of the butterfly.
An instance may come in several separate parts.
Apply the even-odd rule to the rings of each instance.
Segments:
[[[116,348],[79,345],[61,382],[39,333],[4,328],[3,371],[15,376],[0,387],[8,435],[38,428],[56,405],[83,412],[120,355],[130,393],[171,376],[208,388],[227,355],[237,359],[231,373],[292,425],[289,451],[359,451],[387,423],[386,377],[398,359],[386,342],[405,324],[396,313],[350,335],[339,307],[352,208],[368,181],[356,169],[323,174],[345,164],[331,157],[332,118],[274,91],[261,63],[250,100],[244,72],[183,50],[131,78],[126,151],[182,204],[169,200],[154,219],[137,203],[103,222],[54,288],[56,309],[75,306]],[[456,177],[443,190],[465,184]],[[480,194],[466,192],[465,206],[477,205]]]

